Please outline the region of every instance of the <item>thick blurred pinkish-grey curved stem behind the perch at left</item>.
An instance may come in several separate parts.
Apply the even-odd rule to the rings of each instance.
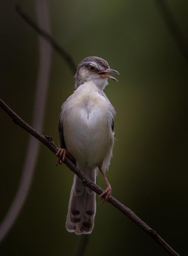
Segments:
[[[46,0],[36,0],[35,9],[37,12],[38,25],[50,33]],[[32,120],[32,126],[39,132],[42,132],[42,125],[44,123],[51,65],[51,51],[50,45],[39,35],[39,71]],[[26,201],[35,171],[39,146],[39,141],[33,136],[30,136],[18,190],[9,211],[0,225],[0,242],[2,242],[10,231],[24,205],[24,202]]]

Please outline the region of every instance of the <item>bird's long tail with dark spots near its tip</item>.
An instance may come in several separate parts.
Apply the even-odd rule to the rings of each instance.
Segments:
[[[88,177],[96,183],[96,170],[90,170]],[[77,175],[70,192],[66,229],[77,235],[90,234],[94,228],[96,213],[96,193],[83,186]]]

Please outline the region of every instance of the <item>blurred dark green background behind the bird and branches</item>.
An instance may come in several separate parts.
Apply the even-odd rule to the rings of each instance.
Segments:
[[[1,98],[31,124],[38,72],[38,35],[15,12],[20,3],[36,20],[34,1],[0,1]],[[168,1],[188,38],[188,2]],[[114,157],[107,178],[112,195],[187,255],[188,63],[164,24],[155,1],[48,1],[52,36],[79,62],[100,56],[118,70],[105,89],[117,115]],[[74,90],[66,62],[53,51],[44,135],[58,144],[60,107]],[[17,191],[28,133],[0,110],[0,220]],[[66,231],[73,174],[55,167],[41,144],[33,184],[2,256],[72,255],[80,236]],[[101,175],[98,185],[105,188]],[[84,256],[165,256],[149,236],[97,197],[94,231]]]

